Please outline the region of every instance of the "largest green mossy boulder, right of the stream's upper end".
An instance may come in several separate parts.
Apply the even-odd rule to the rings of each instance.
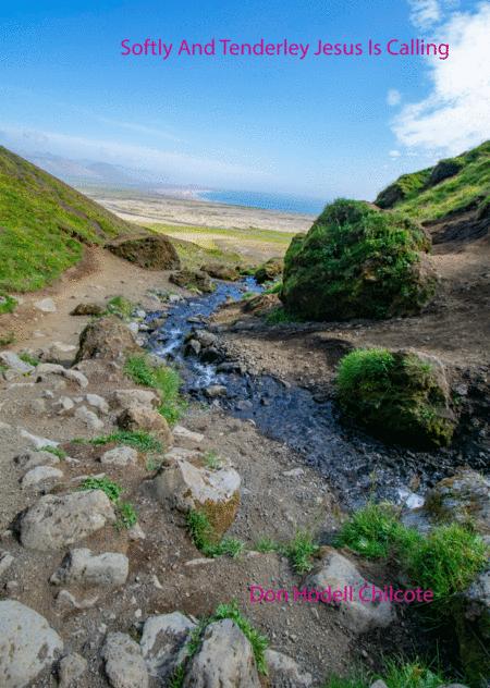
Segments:
[[[416,314],[436,291],[425,256],[430,244],[425,230],[404,216],[336,200],[291,242],[281,300],[291,315],[310,320]]]

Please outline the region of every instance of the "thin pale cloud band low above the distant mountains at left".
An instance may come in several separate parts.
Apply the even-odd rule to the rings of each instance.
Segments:
[[[1,131],[8,145],[17,149],[28,148],[29,152],[50,152],[78,159],[103,160],[137,169],[146,168],[176,182],[205,183],[208,177],[221,182],[237,181],[243,175],[258,181],[268,176],[266,172],[249,169],[232,160],[218,160],[114,140],[27,130],[8,124],[1,124]]]

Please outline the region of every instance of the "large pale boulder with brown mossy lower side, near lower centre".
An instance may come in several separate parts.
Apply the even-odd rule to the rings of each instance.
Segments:
[[[200,452],[173,450],[154,480],[159,500],[184,513],[207,515],[216,537],[233,523],[240,504],[240,475],[222,459],[217,470],[207,468]]]

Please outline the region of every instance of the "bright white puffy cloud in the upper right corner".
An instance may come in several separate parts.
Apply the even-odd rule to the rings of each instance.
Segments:
[[[454,13],[440,27],[438,40],[450,45],[450,56],[430,58],[430,95],[393,120],[401,145],[455,155],[490,136],[489,26],[485,2],[473,13]]]

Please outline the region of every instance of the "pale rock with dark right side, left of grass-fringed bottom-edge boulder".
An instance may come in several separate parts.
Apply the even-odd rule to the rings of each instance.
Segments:
[[[166,681],[185,656],[185,643],[196,624],[180,612],[150,616],[143,628],[143,656],[150,676]]]

